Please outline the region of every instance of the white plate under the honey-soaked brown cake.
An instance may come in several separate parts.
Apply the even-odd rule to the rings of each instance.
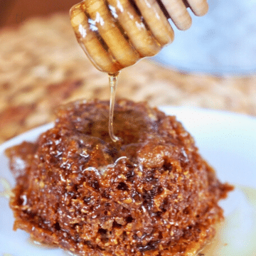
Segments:
[[[207,256],[256,255],[256,119],[230,112],[161,107],[166,114],[175,114],[196,140],[201,154],[217,171],[221,181],[236,185],[227,200],[221,201],[226,221],[221,226]],[[33,141],[47,124],[11,139],[0,146],[1,182],[14,186],[4,150],[9,146]],[[0,191],[4,187],[0,184]],[[0,196],[0,255],[63,256],[59,249],[47,249],[29,242],[22,230],[14,232],[13,214],[7,198]]]

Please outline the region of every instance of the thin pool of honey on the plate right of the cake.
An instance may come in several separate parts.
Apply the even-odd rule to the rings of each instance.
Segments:
[[[243,194],[246,209],[237,206],[225,217],[216,228],[215,238],[200,252],[200,256],[256,255],[256,189],[238,185],[235,191]],[[246,218],[250,223],[245,224]],[[247,225],[251,226],[248,232],[245,231]],[[242,235],[244,232],[245,236]]]

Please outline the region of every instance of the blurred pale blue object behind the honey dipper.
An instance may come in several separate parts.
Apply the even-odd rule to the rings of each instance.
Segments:
[[[193,16],[188,31],[156,60],[186,71],[245,75],[256,72],[256,1],[209,0],[206,16]]]

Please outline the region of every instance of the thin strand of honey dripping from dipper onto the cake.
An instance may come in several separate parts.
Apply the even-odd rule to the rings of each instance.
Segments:
[[[114,74],[109,74],[109,83],[110,83],[110,114],[109,114],[109,134],[113,142],[118,142],[119,138],[114,135],[113,129],[113,117],[114,117],[114,102],[117,88],[117,79],[119,72]]]

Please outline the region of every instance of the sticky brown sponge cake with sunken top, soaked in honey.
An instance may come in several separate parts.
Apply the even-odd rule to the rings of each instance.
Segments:
[[[223,218],[218,181],[175,117],[119,100],[58,109],[35,143],[6,151],[16,187],[14,229],[82,256],[196,255]],[[16,161],[23,161],[18,167]]]

